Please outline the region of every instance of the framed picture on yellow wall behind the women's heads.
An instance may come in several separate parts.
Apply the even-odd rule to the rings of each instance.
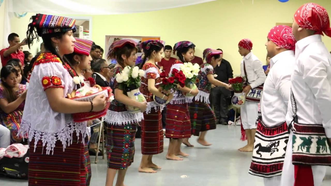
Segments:
[[[106,38],[105,38],[105,43],[106,43],[106,46],[105,46],[105,58],[107,58],[107,54],[108,54],[108,51],[109,51],[109,47],[110,45],[114,42],[114,41],[117,41],[117,40],[121,40],[121,39],[132,39],[134,41],[136,41],[138,43],[137,47],[138,47],[138,53],[137,53],[137,56],[141,56],[142,55],[142,50],[139,48],[141,42],[144,42],[144,41],[147,41],[149,39],[158,39],[160,40],[161,37],[159,36],[156,36],[156,37],[151,37],[151,36],[120,36],[120,35],[106,35]],[[111,63],[116,63],[116,60],[110,60],[108,61],[108,64],[111,64]]]

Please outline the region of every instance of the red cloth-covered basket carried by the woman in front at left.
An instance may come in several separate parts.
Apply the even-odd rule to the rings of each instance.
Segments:
[[[102,87],[102,91],[88,95],[88,96],[83,96],[83,97],[76,97],[76,98],[71,98],[72,100],[75,101],[92,101],[95,97],[104,94],[106,96],[106,100],[109,99],[110,96],[110,89],[108,89],[107,87]],[[107,114],[107,110],[110,106],[110,102],[108,102],[106,108],[102,111],[99,112],[86,112],[86,113],[75,113],[72,114],[73,117],[73,122],[83,122],[83,121],[88,121],[88,120],[92,120],[92,119],[96,119],[102,116],[105,116]]]

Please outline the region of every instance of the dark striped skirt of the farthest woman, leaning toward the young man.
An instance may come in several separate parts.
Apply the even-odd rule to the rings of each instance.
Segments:
[[[199,136],[200,132],[216,129],[216,117],[209,104],[193,99],[189,111],[193,135]]]

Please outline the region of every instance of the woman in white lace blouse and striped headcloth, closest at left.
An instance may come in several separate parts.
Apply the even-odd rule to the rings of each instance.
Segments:
[[[71,114],[102,111],[107,101],[104,95],[91,102],[66,98],[76,88],[77,74],[62,59],[74,51],[74,23],[70,18],[37,14],[28,25],[28,45],[41,36],[46,48],[34,63],[20,131],[29,136],[29,186],[88,185],[86,122],[73,122]]]

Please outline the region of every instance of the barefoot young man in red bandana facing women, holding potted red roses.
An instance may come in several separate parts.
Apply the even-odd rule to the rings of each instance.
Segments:
[[[245,70],[248,78],[248,85],[244,88],[246,95],[252,88],[258,87],[265,81],[265,73],[261,61],[251,52],[253,43],[250,39],[243,39],[238,44],[238,52],[243,57],[240,70],[241,76],[245,76]],[[245,68],[244,68],[245,67]],[[258,103],[246,101],[241,107],[241,123],[247,136],[247,145],[240,148],[242,152],[253,151],[254,137],[256,132],[256,119],[258,118]]]

